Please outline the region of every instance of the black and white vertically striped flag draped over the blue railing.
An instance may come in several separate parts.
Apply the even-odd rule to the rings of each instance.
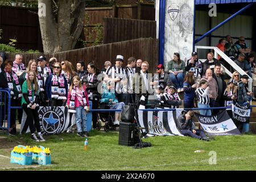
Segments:
[[[176,112],[175,111],[143,111],[145,109],[145,98],[142,96],[139,110],[138,120],[139,126],[146,130],[147,135],[152,137],[155,135],[179,135],[183,136],[177,129]],[[144,132],[143,131],[143,132]]]

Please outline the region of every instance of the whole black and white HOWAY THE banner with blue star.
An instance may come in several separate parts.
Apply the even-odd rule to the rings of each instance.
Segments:
[[[240,131],[229,117],[226,110],[217,115],[195,113],[203,130],[210,135],[240,135]]]

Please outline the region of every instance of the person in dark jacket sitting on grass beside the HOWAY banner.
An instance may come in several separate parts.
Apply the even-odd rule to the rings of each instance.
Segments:
[[[192,110],[181,111],[180,116],[177,118],[177,127],[181,131],[181,134],[200,140],[207,140],[209,138],[205,136],[203,130],[196,130],[195,124],[193,123],[192,117],[194,112]]]

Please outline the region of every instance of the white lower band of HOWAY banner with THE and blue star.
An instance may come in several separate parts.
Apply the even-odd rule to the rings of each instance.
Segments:
[[[226,133],[237,128],[232,119],[228,119],[215,125],[205,125],[201,122],[200,124],[207,133]]]

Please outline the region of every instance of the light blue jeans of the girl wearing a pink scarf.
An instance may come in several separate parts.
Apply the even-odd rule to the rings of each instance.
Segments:
[[[76,127],[77,132],[87,131],[86,112],[83,106],[76,107]]]

